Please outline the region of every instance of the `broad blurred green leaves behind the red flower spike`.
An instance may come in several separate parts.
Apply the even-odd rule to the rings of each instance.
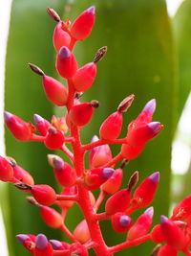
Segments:
[[[127,95],[134,93],[136,99],[124,115],[125,124],[138,115],[147,101],[157,99],[154,120],[160,121],[164,129],[125,169],[123,184],[125,186],[128,177],[136,170],[140,180],[153,172],[160,173],[159,190],[153,202],[154,222],[157,223],[161,214],[168,215],[170,202],[174,199],[170,187],[171,147],[190,91],[190,0],[183,2],[173,20],[167,13],[164,0],[13,0],[6,59],[5,107],[26,121],[32,121],[33,113],[49,120],[53,113],[62,114],[62,108],[58,109],[48,102],[40,79],[32,74],[27,63],[35,63],[47,75],[58,78],[52,43],[55,24],[46,13],[46,8],[51,7],[64,18],[74,20],[91,5],[96,5],[96,25],[89,38],[77,43],[75,56],[79,65],[83,65],[92,61],[96,50],[103,45],[108,46],[108,53],[98,63],[94,86],[83,96],[83,101],[96,99],[101,104],[92,123],[82,129],[83,142],[89,142],[94,134],[98,134],[102,121],[116,110],[118,103]],[[126,127],[121,136],[125,132]],[[6,149],[8,155],[31,172],[36,183],[50,184],[59,191],[52,168],[47,163],[46,155],[50,151],[42,144],[15,141],[6,130]],[[112,150],[115,154],[118,148],[112,147]],[[182,192],[183,195],[185,193],[189,194],[190,189]],[[30,255],[15,241],[16,234],[45,233],[49,239],[63,238],[59,231],[41,221],[37,209],[27,203],[24,196],[11,184],[1,189],[10,256]],[[179,195],[178,198],[181,197]],[[81,218],[74,206],[67,217],[69,227],[73,230]],[[101,228],[109,245],[122,242],[125,238],[115,234],[109,221],[101,223]],[[139,256],[140,252],[141,255],[150,255],[153,247],[154,244],[145,243],[117,255]]]

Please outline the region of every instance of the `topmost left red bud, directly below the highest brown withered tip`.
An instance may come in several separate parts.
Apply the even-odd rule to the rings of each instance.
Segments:
[[[59,21],[57,25],[55,26],[54,32],[53,32],[53,46],[56,51],[59,51],[59,49],[62,46],[69,47],[71,42],[71,36],[63,31],[62,29],[62,22]]]

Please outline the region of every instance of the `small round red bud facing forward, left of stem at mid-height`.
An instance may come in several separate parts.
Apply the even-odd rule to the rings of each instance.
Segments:
[[[64,144],[65,138],[62,131],[56,128],[49,128],[46,134],[44,144],[50,150],[58,150]]]

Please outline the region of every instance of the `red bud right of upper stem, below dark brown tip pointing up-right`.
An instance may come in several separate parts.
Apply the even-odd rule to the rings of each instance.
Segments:
[[[96,63],[90,62],[77,69],[73,77],[74,88],[76,91],[83,92],[88,90],[96,78]]]

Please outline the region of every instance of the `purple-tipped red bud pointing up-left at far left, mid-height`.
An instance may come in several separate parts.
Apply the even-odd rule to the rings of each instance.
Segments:
[[[31,139],[32,133],[35,131],[35,127],[31,123],[26,123],[18,116],[7,111],[4,112],[4,118],[7,127],[17,140],[29,141]]]

